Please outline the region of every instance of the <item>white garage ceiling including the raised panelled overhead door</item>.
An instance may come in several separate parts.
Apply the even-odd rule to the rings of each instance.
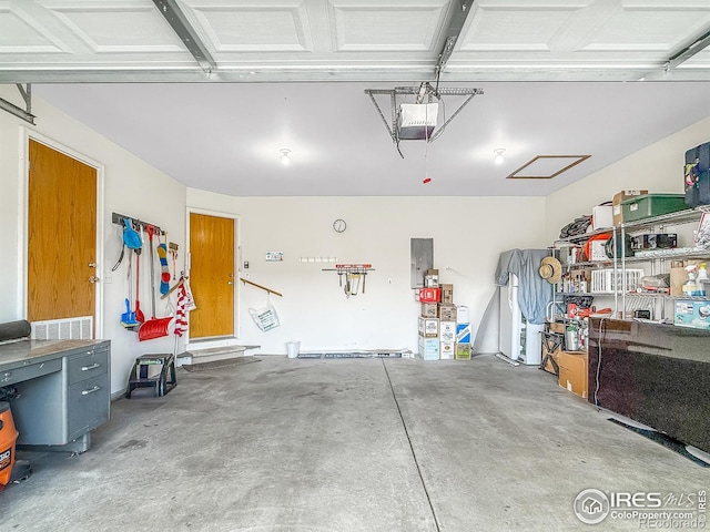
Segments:
[[[708,0],[0,0],[0,83],[234,195],[549,194],[710,116],[709,42]],[[422,82],[484,93],[403,158],[365,90]]]

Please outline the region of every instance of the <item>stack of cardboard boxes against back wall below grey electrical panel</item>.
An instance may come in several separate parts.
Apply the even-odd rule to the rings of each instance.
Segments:
[[[438,270],[427,269],[418,300],[419,356],[424,360],[469,360],[468,308],[454,305],[454,285],[439,285]]]

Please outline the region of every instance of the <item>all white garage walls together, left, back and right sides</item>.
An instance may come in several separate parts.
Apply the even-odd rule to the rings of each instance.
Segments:
[[[0,85],[0,98],[17,102],[13,85]],[[251,280],[284,294],[274,297],[282,326],[262,332],[247,309],[265,304],[265,294],[237,284],[239,328],[243,344],[261,345],[262,354],[285,354],[285,342],[301,340],[304,350],[416,350],[418,304],[409,288],[409,239],[434,238],[435,267],[443,283],[455,285],[455,303],[470,308],[474,332],[495,287],[493,274],[501,250],[545,247],[559,229],[592,205],[622,188],[682,192],[684,151],[710,140],[710,119],[656,143],[565,190],[540,197],[231,197],[186,190],[170,176],[118,147],[109,140],[34,99],[37,126],[0,112],[0,323],[26,317],[23,246],[26,131],[36,131],[59,146],[98,162],[104,175],[102,268],[109,269],[120,248],[119,227],[111,213],[132,215],[169,231],[169,239],[185,250],[186,207],[235,214]],[[136,124],[136,127],[140,124]],[[335,218],[348,228],[335,234]],[[285,260],[266,263],[267,250]],[[372,263],[366,293],[347,299],[328,264],[298,258],[335,256],[339,262]],[[181,253],[181,263],[185,253]],[[145,265],[146,262],[143,262]],[[179,268],[183,265],[179,264]],[[144,268],[145,269],[145,268]],[[173,350],[172,338],[141,344],[119,324],[126,286],[124,266],[102,286],[104,328],[112,340],[112,391],[125,387],[133,359],[143,352]],[[389,283],[392,279],[392,283]],[[146,282],[143,283],[145,287]],[[146,289],[146,288],[145,288]],[[148,291],[142,306],[150,310]],[[160,301],[160,299],[159,299]],[[197,301],[199,303],[199,301]],[[159,316],[162,315],[159,303]],[[179,350],[182,346],[179,346]]]

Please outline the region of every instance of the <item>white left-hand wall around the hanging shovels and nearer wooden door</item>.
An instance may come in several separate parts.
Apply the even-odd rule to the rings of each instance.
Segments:
[[[79,90],[79,89],[78,89]],[[0,98],[18,102],[14,85],[0,85]],[[19,104],[19,102],[18,102]],[[36,126],[0,111],[0,323],[24,319],[26,286],[22,250],[26,245],[26,222],[23,205],[24,134],[37,132],[58,146],[82,154],[103,167],[103,256],[98,257],[99,267],[109,272],[120,252],[121,229],[111,223],[111,213],[134,216],[168,229],[169,239],[184,249],[185,242],[185,187],[168,175],[156,171],[131,153],[120,149],[105,137],[89,130],[63,113],[33,99]],[[140,124],[136,124],[140,127]],[[155,259],[159,266],[158,258]],[[146,274],[141,306],[150,316],[148,260],[142,263]],[[156,268],[158,269],[158,268]],[[143,352],[172,352],[172,338],[139,342],[135,332],[120,325],[128,295],[125,262],[113,273],[111,284],[103,284],[103,330],[97,331],[101,338],[112,340],[111,389],[119,391],[125,387],[129,370],[135,357]],[[160,299],[159,299],[160,301]],[[159,303],[162,316],[164,301]]]

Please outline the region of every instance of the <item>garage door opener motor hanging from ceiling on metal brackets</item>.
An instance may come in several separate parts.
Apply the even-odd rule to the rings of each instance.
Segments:
[[[395,89],[365,89],[379,113],[387,133],[395,143],[397,152],[404,158],[399,150],[399,141],[436,141],[454,117],[477,94],[483,94],[483,89],[439,89],[424,82],[419,86],[397,86]],[[389,96],[392,119],[387,122],[382,108],[375,100],[376,95]],[[443,96],[464,96],[464,101],[450,116],[439,125],[438,109],[444,105]],[[438,129],[437,129],[438,127]],[[436,131],[435,131],[436,130]]]

